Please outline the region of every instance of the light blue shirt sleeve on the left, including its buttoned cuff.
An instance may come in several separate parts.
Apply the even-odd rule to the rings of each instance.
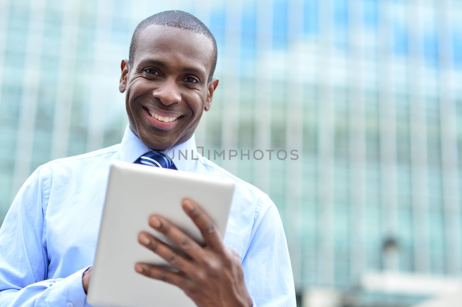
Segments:
[[[42,173],[40,167],[27,179],[0,228],[0,307],[90,306],[82,285],[87,268],[45,279],[49,260],[43,216],[49,189],[44,186],[49,182]]]

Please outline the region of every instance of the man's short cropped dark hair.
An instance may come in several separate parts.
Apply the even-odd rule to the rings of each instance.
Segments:
[[[205,35],[209,38],[213,43],[213,58],[212,58],[212,68],[210,69],[210,75],[208,77],[207,82],[210,82],[213,77],[213,72],[215,71],[215,67],[217,66],[217,42],[215,41],[215,37],[213,36],[212,32],[208,30],[207,26],[203,24],[198,18],[195,16],[183,12],[183,11],[165,11],[154,14],[142,22],[138,24],[136,27],[132,41],[130,42],[130,51],[128,53],[128,63],[130,67],[133,66],[133,61],[135,57],[135,50],[138,43],[138,35],[142,30],[145,30],[150,25],[162,25],[167,27],[174,27],[184,30],[189,30],[195,33],[199,33]]]

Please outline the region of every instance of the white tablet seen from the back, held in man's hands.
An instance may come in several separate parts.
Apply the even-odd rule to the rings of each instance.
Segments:
[[[135,272],[136,262],[167,264],[138,243],[138,234],[147,231],[165,242],[166,237],[148,224],[149,217],[156,213],[203,243],[201,232],[181,207],[182,199],[188,197],[204,208],[224,237],[233,192],[231,180],[114,163],[109,172],[88,303],[94,307],[194,307],[176,286]]]

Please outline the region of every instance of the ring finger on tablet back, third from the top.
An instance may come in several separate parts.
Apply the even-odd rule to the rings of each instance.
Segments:
[[[160,242],[154,236],[151,236],[147,232],[141,232],[138,235],[138,242],[149,248],[154,253],[158,254],[170,265],[176,267],[178,270],[190,274],[195,270],[195,266],[188,260],[184,259],[181,255],[177,254],[164,242]]]

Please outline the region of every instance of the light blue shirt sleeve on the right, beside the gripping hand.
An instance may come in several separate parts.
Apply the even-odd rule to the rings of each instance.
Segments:
[[[266,195],[256,208],[242,263],[253,307],[296,307],[292,265],[279,212]]]

